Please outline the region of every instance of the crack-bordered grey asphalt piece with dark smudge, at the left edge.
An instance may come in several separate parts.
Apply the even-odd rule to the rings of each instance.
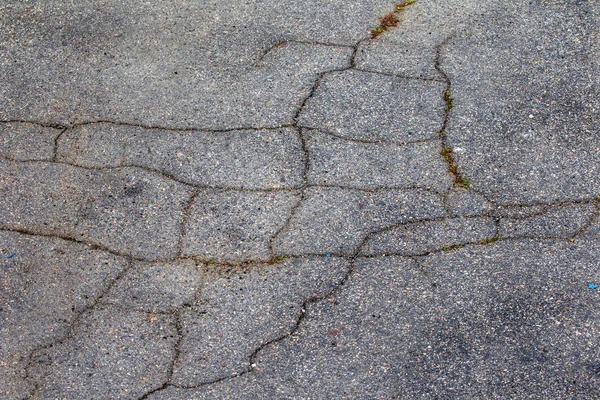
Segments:
[[[84,240],[150,260],[177,255],[187,186],[138,168],[0,160],[0,171],[3,228]]]

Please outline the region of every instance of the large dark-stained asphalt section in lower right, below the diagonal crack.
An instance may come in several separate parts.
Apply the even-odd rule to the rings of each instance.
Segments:
[[[509,241],[357,259],[252,373],[151,399],[595,398],[598,247]],[[384,284],[382,284],[384,282]]]

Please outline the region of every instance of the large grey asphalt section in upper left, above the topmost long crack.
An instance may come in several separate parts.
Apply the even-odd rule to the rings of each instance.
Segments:
[[[290,43],[261,55],[291,40],[352,45],[392,4],[7,2],[0,71],[11,84],[0,92],[0,118],[211,129],[291,123],[316,75],[347,65],[351,49]]]

